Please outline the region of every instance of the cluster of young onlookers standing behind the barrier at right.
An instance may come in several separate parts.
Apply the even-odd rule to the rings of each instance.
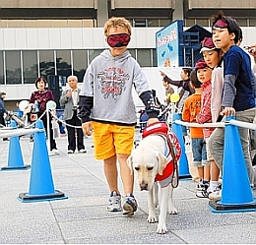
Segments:
[[[188,96],[182,109],[182,118],[187,122],[210,123],[224,121],[228,116],[252,123],[255,118],[255,75],[248,52],[239,47],[242,31],[236,21],[219,13],[213,22],[213,36],[201,43],[203,58],[195,64],[195,74],[190,77],[201,90]],[[255,58],[255,46],[247,47]],[[198,94],[196,96],[196,94]],[[201,98],[199,96],[201,95]],[[246,98],[245,98],[246,97]],[[201,101],[201,109],[198,109]],[[197,184],[199,198],[220,200],[222,197],[222,169],[224,160],[224,128],[203,128],[203,138],[190,128],[193,164],[200,178]],[[250,135],[246,128],[238,128],[242,151],[251,186],[254,186]]]

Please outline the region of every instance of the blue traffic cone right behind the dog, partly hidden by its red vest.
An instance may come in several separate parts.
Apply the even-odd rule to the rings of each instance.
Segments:
[[[185,144],[184,144],[184,139],[182,134],[182,127],[180,124],[175,123],[175,120],[180,120],[180,119],[181,119],[180,114],[178,113],[173,114],[171,130],[178,138],[178,141],[181,147],[181,155],[179,158],[178,169],[179,169],[179,178],[184,179],[184,178],[191,178],[191,174],[189,173],[188,160],[187,160],[187,155],[185,153]]]

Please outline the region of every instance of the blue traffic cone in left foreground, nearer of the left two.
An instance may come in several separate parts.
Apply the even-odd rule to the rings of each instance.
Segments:
[[[35,127],[43,129],[42,121],[38,120]],[[45,132],[36,132],[33,138],[30,190],[29,193],[19,194],[18,199],[22,202],[38,202],[65,198],[64,193],[54,190]]]

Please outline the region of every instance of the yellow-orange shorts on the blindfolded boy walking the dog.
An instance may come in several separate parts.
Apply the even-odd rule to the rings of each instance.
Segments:
[[[94,121],[92,126],[96,159],[107,159],[119,153],[132,153],[135,126],[120,126]]]

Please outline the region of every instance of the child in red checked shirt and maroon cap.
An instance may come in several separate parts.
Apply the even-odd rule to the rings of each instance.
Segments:
[[[200,59],[197,61],[195,65],[195,70],[197,73],[198,80],[202,83],[201,110],[196,115],[196,121],[200,124],[211,123],[212,68],[207,65],[204,59]],[[203,128],[204,139],[206,141],[207,160],[204,162],[204,179],[202,181],[203,190],[197,192],[196,196],[198,198],[208,198],[208,195],[205,194],[210,183],[210,160],[212,156],[209,153],[207,142],[213,131],[214,128]]]

